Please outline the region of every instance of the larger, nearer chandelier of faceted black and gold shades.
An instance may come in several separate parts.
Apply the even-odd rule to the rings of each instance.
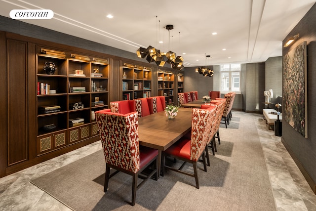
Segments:
[[[173,25],[166,25],[166,29],[169,31],[169,44],[170,44],[170,30],[173,29]],[[151,62],[156,62],[159,67],[163,67],[167,62],[171,64],[171,68],[174,70],[182,70],[184,68],[183,62],[184,59],[182,56],[176,56],[176,54],[172,51],[168,51],[166,53],[160,52],[159,49],[149,45],[147,48],[140,47],[136,51],[137,56],[139,58],[145,58],[146,60]]]

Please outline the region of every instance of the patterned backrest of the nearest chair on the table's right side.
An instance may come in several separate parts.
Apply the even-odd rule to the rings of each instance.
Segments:
[[[190,159],[193,161],[197,161],[208,143],[215,111],[215,107],[212,110],[192,109]]]

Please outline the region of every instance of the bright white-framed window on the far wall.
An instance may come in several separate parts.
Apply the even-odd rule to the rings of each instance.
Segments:
[[[220,90],[223,93],[230,91],[240,92],[240,64],[220,65]]]

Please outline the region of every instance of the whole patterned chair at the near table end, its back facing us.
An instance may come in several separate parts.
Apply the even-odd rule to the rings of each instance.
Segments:
[[[156,180],[158,179],[158,150],[139,146],[137,112],[118,114],[97,111],[95,113],[106,162],[104,192],[108,190],[109,178],[118,171],[130,174],[133,176],[131,205],[134,206],[136,190],[154,174]],[[153,163],[154,170],[137,186],[140,173]],[[116,171],[110,174],[110,168]],[[144,178],[144,175],[141,178]]]

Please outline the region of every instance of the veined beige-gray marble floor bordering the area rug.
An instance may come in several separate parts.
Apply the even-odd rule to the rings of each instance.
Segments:
[[[238,111],[233,111],[233,117],[234,112]],[[254,118],[258,130],[277,211],[316,211],[316,195],[284,148],[281,138],[268,129],[262,115],[246,115]],[[100,142],[95,142],[0,178],[0,211],[68,211],[69,208],[31,184],[30,180],[101,149]]]

